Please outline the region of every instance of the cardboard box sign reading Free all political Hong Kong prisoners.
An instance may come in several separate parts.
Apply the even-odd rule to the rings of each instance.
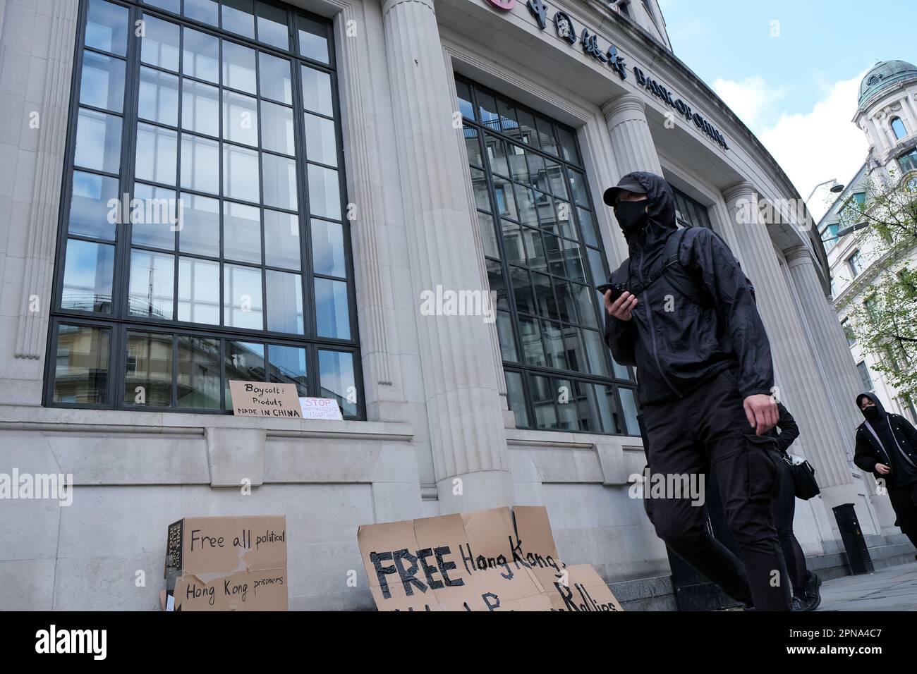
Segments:
[[[286,611],[286,517],[186,517],[169,526],[169,611]]]

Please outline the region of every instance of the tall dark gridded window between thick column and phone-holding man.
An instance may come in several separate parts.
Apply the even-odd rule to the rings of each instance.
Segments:
[[[457,90],[517,425],[633,435],[633,376],[602,341],[594,284],[609,272],[575,133],[460,77]]]

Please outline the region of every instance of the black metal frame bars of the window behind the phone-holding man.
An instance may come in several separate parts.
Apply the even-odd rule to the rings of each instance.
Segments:
[[[640,406],[639,406],[639,401],[636,395],[636,376],[635,376],[634,368],[630,366],[624,366],[621,364],[615,364],[611,357],[611,352],[605,346],[603,340],[602,340],[602,345],[601,345],[601,351],[602,351],[601,358],[605,359],[605,367],[607,368],[609,372],[612,373],[611,377],[605,377],[602,375],[592,374],[588,370],[584,370],[584,371],[560,370],[558,368],[548,367],[547,365],[538,366],[538,365],[532,365],[532,364],[525,362],[525,353],[524,353],[524,346],[523,346],[524,342],[522,339],[522,332],[521,332],[522,327],[520,323],[520,312],[516,306],[515,293],[511,290],[512,274],[509,272],[511,264],[506,254],[505,241],[503,239],[503,228],[500,226],[500,222],[499,222],[501,219],[500,217],[501,211],[498,209],[498,200],[496,198],[496,190],[495,190],[495,185],[493,181],[491,160],[486,150],[486,145],[484,144],[483,138],[485,134],[491,134],[493,137],[500,138],[504,142],[508,142],[513,145],[525,146],[526,153],[531,151],[532,153],[541,156],[543,159],[549,159],[551,161],[558,163],[558,165],[561,166],[564,170],[565,189],[568,190],[568,193],[569,193],[569,185],[570,185],[568,171],[570,170],[577,171],[577,173],[582,176],[582,179],[584,181],[583,190],[585,191],[586,199],[588,200],[588,207],[589,207],[589,210],[590,210],[590,213],[593,219],[594,227],[595,227],[595,232],[594,232],[594,238],[596,240],[595,245],[591,245],[587,243],[586,238],[583,238],[582,236],[582,224],[580,221],[580,213],[577,208],[576,197],[572,193],[569,193],[569,202],[571,205],[571,211],[575,212],[575,215],[571,213],[570,221],[571,221],[572,227],[575,228],[575,236],[578,239],[576,243],[579,245],[580,250],[583,253],[582,268],[584,272],[584,283],[582,284],[584,284],[589,289],[594,289],[596,285],[602,282],[605,282],[605,279],[611,276],[611,271],[608,265],[608,260],[605,255],[605,249],[602,243],[602,232],[600,231],[600,228],[598,227],[597,211],[595,209],[595,204],[592,200],[591,191],[589,189],[589,184],[587,180],[588,173],[585,167],[585,161],[582,160],[583,153],[582,153],[582,150],[580,149],[580,144],[577,138],[576,129],[573,127],[569,127],[559,122],[557,119],[554,119],[551,116],[547,116],[537,111],[536,109],[529,107],[528,105],[523,105],[519,103],[518,101],[513,100],[511,97],[505,94],[500,94],[499,92],[487,86],[477,83],[468,77],[460,75],[459,73],[455,73],[455,80],[458,85],[467,86],[470,91],[470,97],[471,97],[470,104],[472,106],[472,112],[473,112],[474,118],[470,119],[469,117],[463,116],[462,123],[463,123],[463,127],[465,128],[473,127],[477,131],[479,149],[481,152],[481,167],[484,171],[484,174],[485,174],[485,177],[488,183],[487,184],[488,198],[490,200],[490,207],[491,207],[491,211],[489,215],[491,215],[495,219],[494,225],[496,229],[499,230],[499,231],[494,232],[494,236],[496,237],[496,244],[499,249],[500,260],[496,260],[492,257],[488,257],[486,253],[485,253],[485,260],[488,260],[489,262],[498,262],[500,264],[501,274],[503,276],[503,287],[506,293],[506,301],[509,304],[508,313],[510,315],[510,319],[512,323],[515,348],[517,351],[516,355],[517,355],[518,360],[511,361],[511,360],[504,359],[503,360],[503,372],[504,374],[507,375],[507,377],[510,374],[518,374],[520,376],[520,379],[522,382],[522,391],[525,396],[525,414],[528,417],[528,422],[529,422],[528,425],[522,424],[521,419],[519,418],[519,415],[517,414],[516,415],[516,420],[517,420],[516,427],[524,428],[528,430],[543,431],[543,432],[580,433],[580,434],[590,434],[590,435],[607,435],[607,436],[623,436],[623,437],[639,436],[637,429],[634,429],[634,432],[631,433],[630,429],[628,428],[627,416],[624,414],[624,404],[621,401],[621,396],[619,393],[619,390],[621,389],[627,389],[632,392],[632,395],[634,398],[635,410],[637,411],[637,414],[639,414]],[[499,119],[497,122],[497,126],[500,128],[493,128],[492,126],[489,126],[488,124],[483,123],[483,121],[479,118],[479,110],[480,110],[480,104],[478,101],[479,93],[486,94],[488,96],[492,96],[493,100],[497,103],[498,108],[501,105],[501,101],[506,101],[507,103],[512,105],[515,109],[525,111],[527,114],[531,115],[533,119],[537,120],[540,117],[542,120],[547,121],[550,124],[552,124],[553,125],[551,127],[552,134],[554,134],[553,141],[554,141],[555,147],[558,149],[558,154],[553,155],[553,154],[550,154],[549,152],[542,150],[540,148],[540,143],[538,146],[531,145],[531,144],[525,144],[523,141],[519,140],[518,138],[514,138],[504,133],[503,128],[500,127]],[[456,109],[460,109],[460,105]],[[558,129],[563,129],[564,131],[566,131],[569,134],[569,137],[572,138],[573,142],[576,144],[576,152],[580,158],[581,163],[576,163],[575,161],[568,160],[566,159],[566,157],[564,157],[564,151],[562,149],[560,137],[558,135]],[[536,131],[536,135],[538,133],[540,133],[540,131]],[[507,158],[507,161],[508,161],[508,158]],[[527,169],[527,171],[530,171],[530,170]],[[512,173],[512,171],[509,169],[506,172]],[[512,183],[515,183],[517,185],[521,184],[518,180],[515,180],[512,175],[507,175],[506,180],[511,184]],[[478,210],[477,204],[476,204],[474,216],[477,217],[481,213],[483,212]],[[524,225],[522,227],[525,228]],[[541,227],[539,227],[539,231],[541,231]],[[571,240],[571,239],[565,239],[565,240]],[[598,252],[601,257],[602,272],[605,276],[605,278],[602,280],[596,280],[592,278],[593,273],[592,273],[591,264],[589,261],[589,250],[590,249]],[[526,273],[532,272],[531,269],[527,265],[523,265],[523,266],[514,265],[514,268],[525,270]],[[554,288],[554,279],[555,278],[559,279],[561,282],[569,282],[570,284],[578,283],[566,277],[559,277],[556,274],[553,274],[549,269],[547,271],[538,271],[538,273],[544,273],[551,278],[552,292]],[[604,318],[605,318],[603,298],[600,293],[594,290],[591,293],[591,297],[592,297],[592,306],[596,313],[596,316],[595,316],[596,325],[598,326],[599,335],[602,336],[603,334],[602,330],[604,327]],[[498,314],[501,312],[503,312],[503,310],[498,312]],[[575,308],[575,309],[571,308],[570,313],[578,314],[579,308]],[[531,314],[523,312],[522,317],[524,319],[536,320],[539,323],[539,333],[542,332],[540,324],[545,323],[545,322],[553,323],[553,324],[560,325],[560,326],[575,326],[576,328],[578,328],[580,334],[582,334],[584,330],[595,329],[595,328],[591,328],[586,323],[580,322],[580,320],[577,320],[576,322],[571,322],[571,321],[566,321],[566,320],[557,320],[554,318],[547,318],[544,315],[539,315],[537,312],[531,313]],[[583,357],[584,359],[587,359],[587,362],[585,363],[585,365],[588,366],[588,348],[584,340],[580,339],[579,341],[580,341],[581,348],[583,348]],[[547,355],[547,348],[545,348],[545,353]],[[618,368],[624,368],[628,372],[629,378],[623,379],[623,378],[615,377],[614,376],[615,365]],[[601,416],[598,416],[595,419],[593,419],[594,423],[597,424],[598,427],[595,429],[591,429],[591,430],[590,429],[583,430],[580,428],[567,428],[567,427],[546,427],[546,426],[537,425],[533,384],[530,381],[530,378],[532,376],[546,377],[549,381],[569,381],[571,384],[574,384],[574,385],[575,385],[575,382],[582,382],[582,383],[590,384],[592,386],[601,385],[601,386],[608,387],[608,389],[613,391],[614,407],[613,407],[612,412],[613,414],[617,416],[617,419],[620,421],[622,432],[621,433],[611,433],[611,432],[602,430]],[[510,389],[510,385],[507,382],[507,392],[509,392],[509,389]],[[599,389],[593,388],[592,391],[593,391],[593,395],[591,396],[591,400],[594,402],[594,404],[597,406],[604,404],[604,401],[602,401],[599,397],[599,393],[598,393]],[[573,392],[570,392],[570,395],[571,395],[571,402],[573,402]],[[512,405],[511,405],[511,408],[512,408]],[[598,409],[596,409],[596,412],[598,413]],[[561,419],[558,415],[558,423],[560,423],[560,421]]]

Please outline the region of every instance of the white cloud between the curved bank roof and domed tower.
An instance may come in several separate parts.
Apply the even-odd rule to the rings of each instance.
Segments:
[[[810,112],[783,113],[772,127],[753,128],[802,198],[819,182],[850,180],[866,159],[866,135],[850,121],[856,112],[863,74],[826,87],[823,99]],[[824,188],[812,197],[808,205],[816,222],[827,212],[833,197]]]

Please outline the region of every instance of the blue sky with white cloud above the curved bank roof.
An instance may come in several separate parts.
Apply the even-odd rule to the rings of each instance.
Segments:
[[[823,180],[846,182],[866,156],[866,137],[851,123],[863,74],[877,61],[917,62],[917,3],[904,0],[659,5],[676,55],[755,132],[803,198]],[[828,196],[816,193],[812,215]]]

